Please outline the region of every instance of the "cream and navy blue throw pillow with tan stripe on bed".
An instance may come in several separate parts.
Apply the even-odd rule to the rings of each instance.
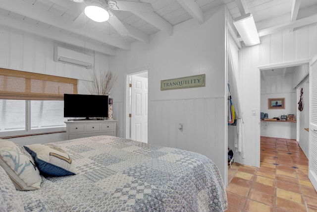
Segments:
[[[32,155],[41,173],[50,176],[76,174],[76,167],[67,152],[53,144],[31,144],[24,148]]]

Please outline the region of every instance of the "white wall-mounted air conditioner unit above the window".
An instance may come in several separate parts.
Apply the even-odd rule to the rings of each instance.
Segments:
[[[90,69],[94,66],[93,56],[65,49],[60,46],[55,46],[54,48],[54,61],[80,66],[86,69]]]

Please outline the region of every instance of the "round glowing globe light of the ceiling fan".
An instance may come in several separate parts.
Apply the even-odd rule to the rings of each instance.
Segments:
[[[108,11],[98,2],[92,2],[86,6],[85,15],[96,22],[104,22],[109,19]]]

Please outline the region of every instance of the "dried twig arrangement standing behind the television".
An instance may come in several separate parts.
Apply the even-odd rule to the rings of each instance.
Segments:
[[[109,95],[110,90],[117,79],[117,76],[111,71],[100,72],[98,76],[96,71],[90,73],[92,83],[86,83],[86,87],[91,94]]]

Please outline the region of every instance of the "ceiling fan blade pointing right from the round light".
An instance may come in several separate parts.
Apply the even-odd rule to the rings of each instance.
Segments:
[[[151,3],[142,3],[134,1],[124,1],[124,0],[109,0],[108,6],[111,9],[122,10],[122,11],[153,11]]]

